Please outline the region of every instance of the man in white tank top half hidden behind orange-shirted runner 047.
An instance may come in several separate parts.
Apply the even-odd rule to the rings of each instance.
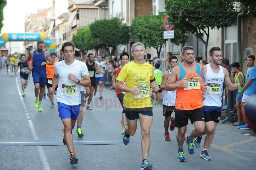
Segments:
[[[164,98],[163,98],[163,115],[165,117],[165,119],[164,119],[164,129],[165,129],[164,140],[166,140],[166,141],[170,141],[170,135],[168,132],[170,120],[171,120],[170,130],[173,131],[175,128],[175,118],[171,117],[171,113],[175,109],[176,90],[175,91],[165,90],[165,84],[171,74],[172,69],[178,65],[178,59],[175,55],[169,56],[168,65],[169,65],[170,69],[164,73],[162,83],[160,86],[160,89],[163,90],[163,92],[164,92]]]

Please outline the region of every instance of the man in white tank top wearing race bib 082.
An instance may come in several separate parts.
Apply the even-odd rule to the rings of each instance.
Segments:
[[[203,111],[205,115],[205,143],[200,152],[200,157],[205,160],[212,160],[212,157],[208,155],[208,148],[210,147],[215,129],[220,120],[222,109],[222,92],[223,82],[230,91],[234,91],[240,88],[240,84],[235,82],[232,84],[229,73],[226,68],[221,66],[222,52],[219,47],[212,47],[210,49],[211,64],[204,65],[204,78],[202,82],[207,85],[206,93],[203,96]],[[202,136],[198,136],[194,143],[197,148],[200,148]]]

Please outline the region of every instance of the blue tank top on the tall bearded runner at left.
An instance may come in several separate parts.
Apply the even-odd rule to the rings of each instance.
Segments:
[[[44,57],[44,50],[41,54],[36,54],[36,50],[33,52],[33,70],[32,74],[36,74],[40,77],[46,77],[45,65],[41,66],[42,62],[46,62]]]

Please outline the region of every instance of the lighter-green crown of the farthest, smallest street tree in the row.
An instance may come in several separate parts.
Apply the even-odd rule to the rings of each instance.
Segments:
[[[79,29],[77,33],[73,35],[72,42],[74,43],[75,47],[85,51],[85,53],[87,53],[86,51],[94,48],[92,43],[92,35],[89,28]]]

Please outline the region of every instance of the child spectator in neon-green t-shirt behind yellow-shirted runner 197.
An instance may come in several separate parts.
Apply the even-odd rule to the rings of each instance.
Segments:
[[[160,67],[160,63],[155,62],[154,64],[156,70],[154,71],[155,74],[155,79],[156,79],[156,83],[157,85],[160,87],[161,83],[162,83],[162,78],[163,78],[163,72],[159,69]],[[160,105],[160,93],[162,91],[159,89],[158,92],[153,92],[154,93],[154,102],[153,104],[157,104]]]

